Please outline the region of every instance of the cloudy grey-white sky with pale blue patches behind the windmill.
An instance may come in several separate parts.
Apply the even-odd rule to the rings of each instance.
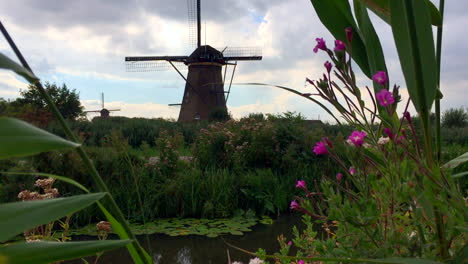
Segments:
[[[189,55],[188,2],[194,0],[15,0],[0,6],[0,19],[42,81],[65,83],[79,92],[85,110],[119,108],[112,115],[177,118],[184,80],[164,71],[127,72],[125,56]],[[438,1],[434,1],[438,5]],[[446,1],[442,50],[442,110],[467,107],[468,1]],[[202,0],[202,44],[261,47],[262,61],[239,62],[234,83],[282,85],[304,93],[305,78],[319,78],[327,57],[315,54],[315,38],[334,41],[308,0]],[[408,98],[390,27],[372,15],[392,83]],[[206,39],[206,42],[205,42]],[[5,40],[0,52],[14,58]],[[228,69],[228,72],[232,69]],[[183,72],[186,74],[187,72]],[[359,84],[371,85],[358,73]],[[0,98],[14,99],[27,83],[0,71]],[[293,111],[331,121],[318,105],[271,87],[233,85],[233,117]],[[402,110],[401,110],[402,111]],[[93,114],[89,114],[92,117]]]

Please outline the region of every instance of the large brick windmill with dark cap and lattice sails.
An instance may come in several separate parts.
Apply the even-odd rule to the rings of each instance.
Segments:
[[[196,6],[194,2],[196,1]],[[226,101],[238,61],[261,60],[261,49],[256,47],[213,48],[201,45],[200,0],[188,0],[189,38],[195,50],[189,56],[125,57],[127,71],[141,72],[167,69],[169,65],[185,80],[185,90],[179,112],[179,122],[207,120],[212,111],[227,111]],[[195,18],[196,17],[196,18]],[[196,30],[195,30],[196,21]],[[195,43],[196,32],[196,43]],[[229,88],[225,91],[228,66],[232,66]],[[185,77],[179,68],[188,68]],[[224,68],[224,77],[222,68]]]

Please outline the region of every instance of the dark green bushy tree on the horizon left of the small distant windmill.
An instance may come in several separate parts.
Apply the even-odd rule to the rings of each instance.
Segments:
[[[50,84],[48,82],[44,84],[44,89],[50,95],[64,118],[76,119],[83,115],[83,106],[81,105],[79,94],[75,89],[68,89],[66,84],[59,87],[55,83]],[[39,111],[48,111],[47,103],[34,85],[29,85],[27,90],[20,93],[22,97],[12,102],[14,106],[29,105]]]

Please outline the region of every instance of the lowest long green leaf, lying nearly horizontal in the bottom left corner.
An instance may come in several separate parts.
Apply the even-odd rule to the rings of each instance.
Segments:
[[[15,243],[0,247],[0,259],[6,258],[7,264],[56,263],[120,248],[130,242],[131,240]]]

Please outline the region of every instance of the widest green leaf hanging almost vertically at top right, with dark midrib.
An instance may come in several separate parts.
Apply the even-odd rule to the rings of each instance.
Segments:
[[[424,1],[390,1],[392,31],[410,98],[428,116],[437,92],[437,63],[429,10]]]

